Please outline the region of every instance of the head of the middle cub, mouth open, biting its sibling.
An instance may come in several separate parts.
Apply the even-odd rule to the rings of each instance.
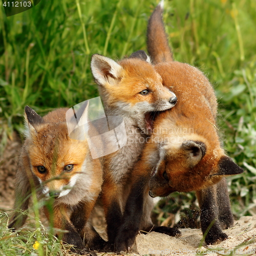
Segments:
[[[177,102],[143,51],[119,62],[94,54],[91,69],[106,112],[132,118],[146,134],[151,133],[154,112],[170,109]]]

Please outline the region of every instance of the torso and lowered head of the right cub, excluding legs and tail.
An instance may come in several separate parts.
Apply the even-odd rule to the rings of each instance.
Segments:
[[[216,97],[198,69],[180,62],[156,65],[166,86],[179,97],[175,108],[160,113],[154,124],[151,156],[151,196],[173,191],[199,190],[219,182],[222,176],[243,170],[227,157],[216,127]],[[153,149],[154,148],[154,149]]]

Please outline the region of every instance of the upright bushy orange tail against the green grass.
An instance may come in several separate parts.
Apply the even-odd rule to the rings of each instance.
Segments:
[[[173,54],[168,45],[167,35],[162,20],[163,0],[152,13],[147,26],[147,51],[154,64],[173,61]]]

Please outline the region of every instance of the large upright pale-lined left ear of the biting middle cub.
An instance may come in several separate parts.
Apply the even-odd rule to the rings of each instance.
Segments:
[[[123,68],[113,59],[94,54],[91,60],[91,70],[96,83],[104,86],[105,83],[116,84]]]

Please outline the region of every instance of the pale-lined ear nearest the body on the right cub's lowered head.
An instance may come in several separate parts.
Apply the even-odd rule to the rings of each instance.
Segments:
[[[181,148],[187,154],[189,167],[194,167],[198,164],[206,153],[206,145],[201,141],[185,141],[182,143]]]

